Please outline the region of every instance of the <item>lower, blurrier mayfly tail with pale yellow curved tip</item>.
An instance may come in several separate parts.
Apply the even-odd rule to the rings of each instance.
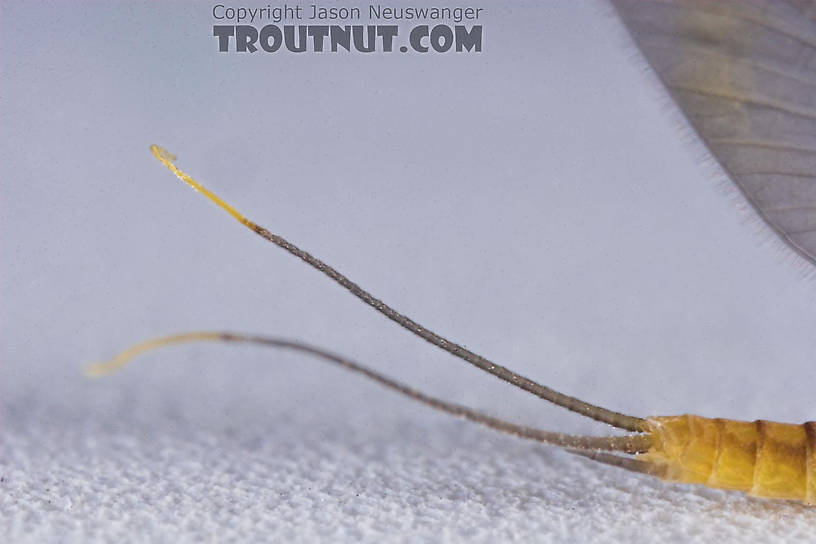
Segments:
[[[624,453],[638,453],[644,452],[651,446],[651,439],[647,434],[629,435],[629,436],[575,436],[569,434],[555,433],[535,429],[532,427],[525,427],[523,425],[516,425],[492,416],[488,416],[476,410],[472,410],[465,406],[453,404],[430,395],[426,395],[416,389],[404,385],[396,380],[393,380],[379,372],[365,367],[355,361],[346,357],[331,353],[329,351],[283,338],[272,338],[267,336],[250,336],[243,334],[234,334],[229,332],[215,332],[215,331],[201,331],[190,332],[184,334],[175,334],[171,336],[164,336],[155,338],[136,344],[135,346],[126,349],[110,361],[90,365],[86,369],[86,373],[90,376],[101,376],[119,370],[125,366],[133,358],[145,352],[171,346],[174,344],[184,344],[189,342],[236,342],[248,344],[260,344],[267,347],[288,349],[312,355],[318,359],[330,362],[345,368],[351,372],[365,376],[366,378],[388,388],[396,391],[401,395],[409,397],[417,402],[435,408],[439,411],[451,414],[456,417],[479,423],[491,429],[526,438],[528,440],[535,440],[546,444],[561,446],[564,448],[578,449],[578,450],[605,450],[605,451],[620,451]]]

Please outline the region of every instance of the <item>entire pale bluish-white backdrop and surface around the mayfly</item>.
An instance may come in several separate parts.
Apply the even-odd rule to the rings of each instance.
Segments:
[[[219,55],[210,3],[0,5],[11,542],[808,541],[816,511],[498,436],[608,432],[431,349],[197,197],[469,348],[637,415],[813,418],[816,289],[740,211],[603,3],[484,4],[481,55]]]

